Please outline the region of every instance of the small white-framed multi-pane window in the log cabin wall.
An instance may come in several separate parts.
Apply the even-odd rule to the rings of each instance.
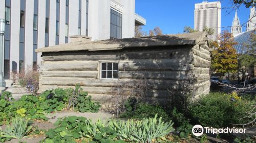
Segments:
[[[101,79],[118,79],[118,63],[102,62],[100,64]]]

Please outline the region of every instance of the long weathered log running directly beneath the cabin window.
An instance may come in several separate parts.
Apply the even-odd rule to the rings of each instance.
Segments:
[[[209,75],[201,75],[197,77],[197,80],[209,80]],[[39,82],[41,85],[50,85],[50,86],[73,86],[79,83],[82,86],[88,87],[134,87],[140,85],[147,86],[148,89],[168,89],[176,85],[182,85],[184,80],[153,80],[148,79],[142,81],[139,79],[121,79],[121,80],[96,80],[96,79],[87,79],[87,78],[74,78],[74,77],[40,77]]]

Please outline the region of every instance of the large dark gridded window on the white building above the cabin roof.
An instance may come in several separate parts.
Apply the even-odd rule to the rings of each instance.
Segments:
[[[122,14],[111,9],[110,12],[110,39],[122,38]]]

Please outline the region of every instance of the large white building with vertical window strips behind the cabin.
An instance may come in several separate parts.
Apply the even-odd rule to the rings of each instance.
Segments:
[[[72,36],[91,40],[134,37],[146,20],[135,13],[135,0],[0,0],[6,20],[4,77],[40,63],[34,52],[64,44]]]

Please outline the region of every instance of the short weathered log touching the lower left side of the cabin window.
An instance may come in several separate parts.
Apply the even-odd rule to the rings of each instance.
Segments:
[[[53,70],[42,71],[43,77],[81,77],[98,78],[99,71],[79,71],[79,70]]]

